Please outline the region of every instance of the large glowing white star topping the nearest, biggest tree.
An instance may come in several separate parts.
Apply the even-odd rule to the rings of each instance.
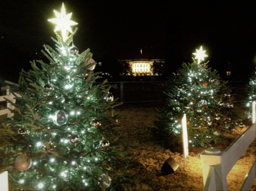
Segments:
[[[68,31],[70,33],[73,33],[70,26],[76,25],[78,23],[70,20],[72,13],[69,13],[66,15],[64,3],[62,3],[61,13],[58,13],[56,10],[54,10],[54,13],[57,18],[48,19],[48,21],[54,24],[57,24],[54,32],[61,30],[62,38],[63,38],[63,41],[65,42],[68,38]]]

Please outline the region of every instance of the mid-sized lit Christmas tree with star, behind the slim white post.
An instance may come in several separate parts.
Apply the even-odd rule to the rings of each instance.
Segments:
[[[206,146],[214,143],[224,132],[236,125],[232,111],[231,89],[211,72],[204,60],[205,51],[196,50],[193,63],[183,63],[177,75],[169,79],[166,87],[165,108],[155,121],[155,135],[167,147],[176,147],[182,142],[181,119],[186,114],[189,143]],[[232,119],[232,120],[231,120]]]

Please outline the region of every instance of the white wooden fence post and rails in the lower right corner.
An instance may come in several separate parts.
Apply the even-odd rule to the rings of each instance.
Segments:
[[[244,151],[256,137],[256,123],[223,152],[214,148],[206,149],[201,154],[203,166],[204,191],[228,190],[227,175]],[[250,190],[256,177],[256,160],[245,176],[240,191]]]

